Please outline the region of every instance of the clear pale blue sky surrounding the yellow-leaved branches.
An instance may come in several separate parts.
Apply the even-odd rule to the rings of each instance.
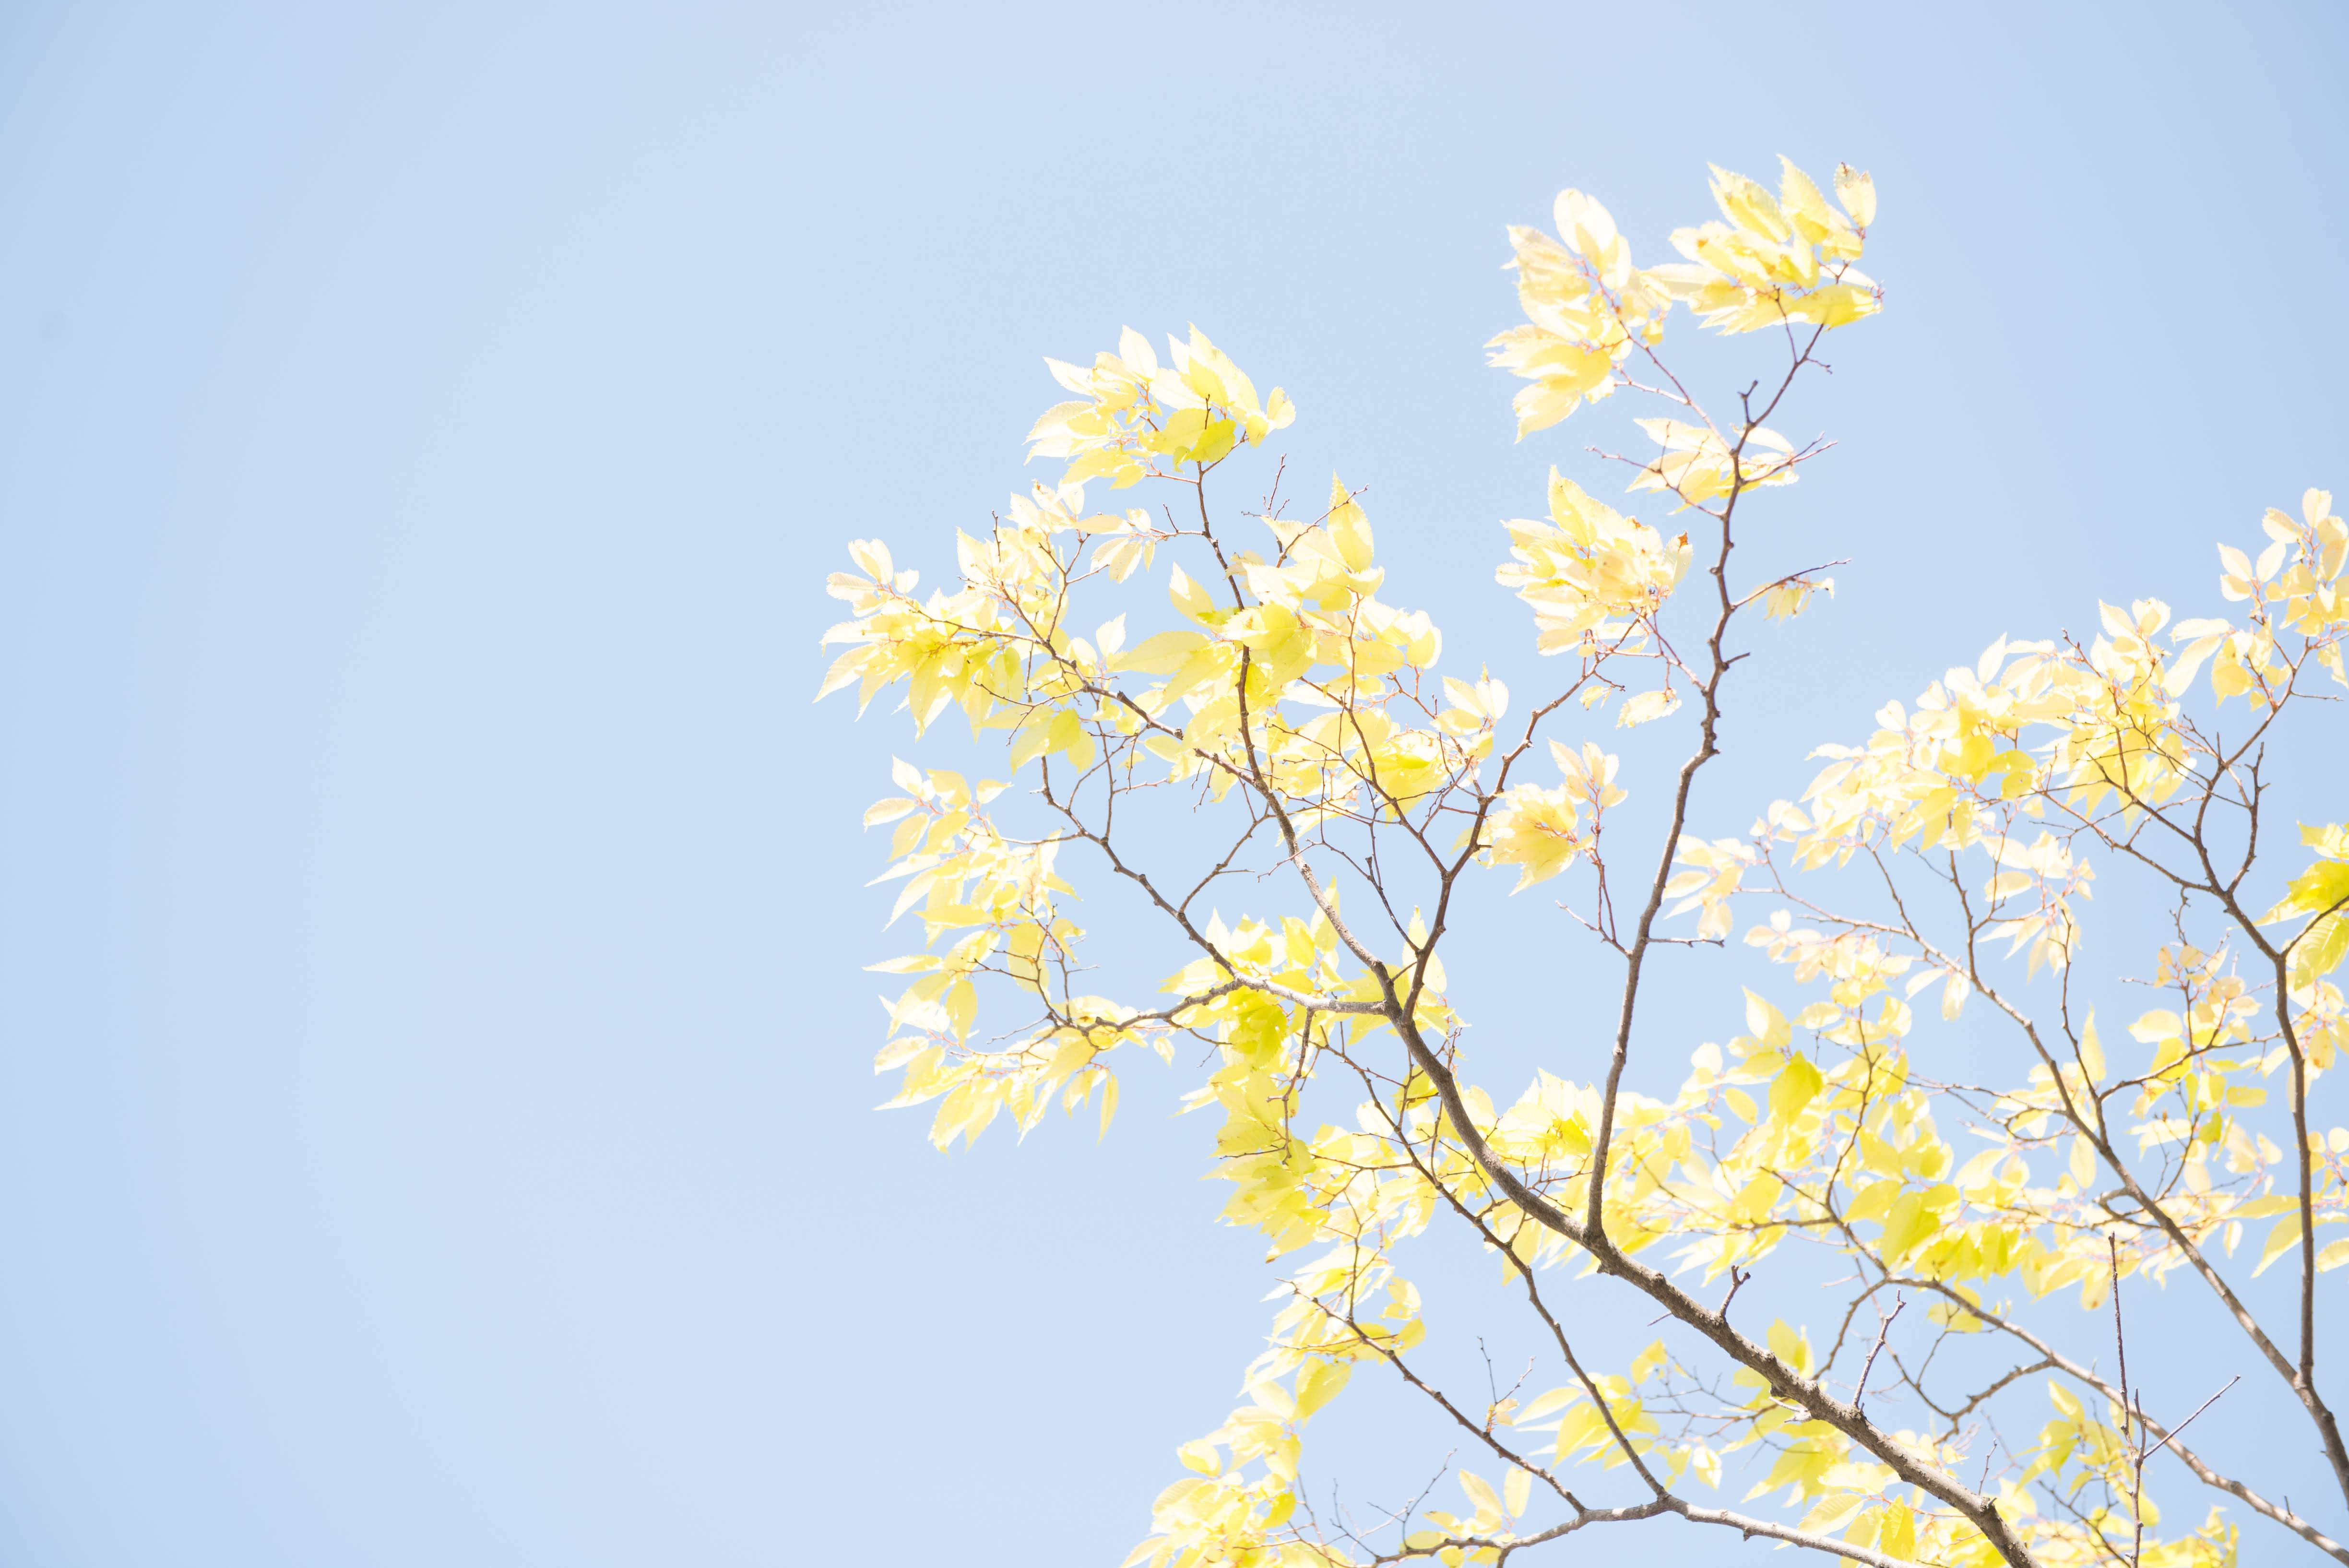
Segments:
[[[2344,68],[2330,2],[0,7],[0,1563],[1118,1561],[1257,1248],[1172,1077],[869,1110],[841,541],[935,581],[1038,355],[1196,320],[1522,663],[1494,522],[1597,437],[1510,442],[1501,226],[1849,160],[1891,303],[1773,508],[1853,564],[1734,832],[2349,494]]]

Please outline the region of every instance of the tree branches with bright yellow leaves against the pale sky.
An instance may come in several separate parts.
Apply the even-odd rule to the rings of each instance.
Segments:
[[[864,816],[895,823],[895,914],[926,929],[879,966],[911,976],[879,1058],[902,1070],[893,1105],[942,1100],[940,1147],[1092,1095],[1106,1131],[1111,1053],[1174,1060],[1189,1037],[1226,1220],[1304,1253],[1245,1403],[1177,1450],[1191,1474],[1130,1563],[1499,1563],[1677,1514],[1875,1566],[2206,1566],[2236,1561],[2225,1507],[2349,1561],[2241,1469],[2260,1455],[2206,1455],[2199,1410],[2145,1408],[2126,1316],[2175,1312],[2140,1281],[2213,1293],[2349,1497],[2318,1382],[2321,1274],[2349,1262],[2349,1234],[2318,1227],[2349,1220],[2349,1131],[2311,1100],[2349,1027],[2326,978],[2349,950],[2349,827],[2302,827],[2286,882],[2262,860],[2281,726],[2342,684],[2349,531],[2311,489],[2297,517],[2267,512],[2257,559],[2220,548],[2227,618],[2140,599],[2100,607],[2088,644],[2001,639],[1865,743],[1823,748],[1806,795],[1745,837],[1698,837],[1722,705],[1752,679],[1741,637],[1832,588],[1823,567],[1745,574],[1736,545],[1757,491],[1825,449],[1769,421],[1825,334],[1882,308],[1856,268],[1875,188],[1846,167],[1835,190],[1792,165],[1776,195],[1715,169],[1722,221],[1677,230],[1682,261],[1654,268],[1576,190],[1557,235],[1510,228],[1527,320],[1489,350],[1527,383],[1520,440],[1583,402],[1654,400],[1654,456],[1618,458],[1628,489],[1694,515],[1668,534],[1553,470],[1548,520],[1510,522],[1499,569],[1560,668],[1522,719],[1501,682],[1438,675],[1438,628],[1379,597],[1358,491],[1332,482],[1304,522],[1276,480],[1245,531],[1217,510],[1210,480],[1294,409],[1196,329],[1165,360],[1128,329],[1090,367],[1050,362],[1071,397],[1029,456],[1066,470],[958,536],[958,588],[916,597],[874,541],[832,578],[853,618],[827,635],[848,649],[822,691],[902,686],[916,731],[961,710],[1027,780],[1010,804],[1029,837],[994,809],[1005,783],[907,762]],[[1668,367],[1675,306],[1769,353],[1734,414]],[[1104,482],[1172,487],[1179,510],[1088,512]],[[1135,637],[1135,611],[1102,602],[1160,552],[1174,625]],[[1677,773],[1626,776],[1595,738],[1607,708],[1616,729],[1687,726]],[[1668,795],[1661,842],[1618,842],[1633,788]],[[1160,922],[1172,999],[1083,990],[1076,863]],[[2100,1032],[2112,987],[2074,971],[2091,867],[2173,936],[2149,954],[2166,994],[2126,1030]],[[1442,950],[1466,900],[1513,891],[1489,870],[1515,889],[1571,872],[1560,933],[1618,959],[1621,992],[1567,1020],[1604,1041],[1595,1081],[1541,1072],[1506,1105],[1468,1081]],[[1266,907],[1224,922],[1219,896]],[[1701,1046],[1670,1098],[1637,1093],[1658,1051],[1637,1027],[1649,959],[1729,945],[1757,900],[1743,943],[1806,999],[1724,997],[1745,1032]],[[1010,1034],[980,1032],[982,985],[1019,1009]],[[1945,1020],[1987,1009],[2027,1077],[1976,1084],[1912,1041],[1926,994]],[[1431,1324],[1398,1267],[1433,1225],[1496,1255],[1557,1387],[1468,1399],[1421,1373]],[[2248,1281],[2279,1262],[2297,1288],[2269,1321],[2281,1293]],[[1670,1338],[1593,1366],[1569,1333],[1581,1291],[1644,1298]],[[1301,1495],[1299,1434],[1362,1363],[1423,1394],[1499,1483],[1461,1469],[1463,1507],[1421,1497],[1388,1530]],[[1701,1500],[1729,1469],[1757,1481],[1748,1502]],[[2154,1483],[2220,1497],[2170,1526]]]

